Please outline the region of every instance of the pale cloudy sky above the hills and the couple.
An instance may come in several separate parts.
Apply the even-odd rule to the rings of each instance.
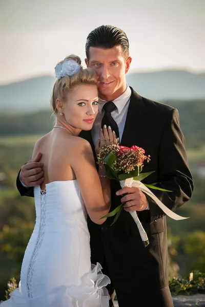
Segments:
[[[130,72],[205,72],[205,0],[0,0],[0,84],[54,75],[73,53],[85,65],[100,25],[126,32]]]

